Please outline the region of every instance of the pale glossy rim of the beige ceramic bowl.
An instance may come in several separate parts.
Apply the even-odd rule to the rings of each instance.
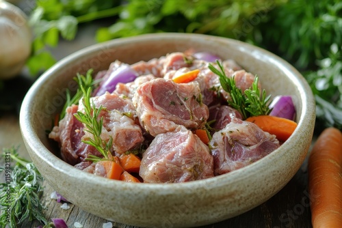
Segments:
[[[313,107],[315,105],[315,101],[313,98],[312,91],[310,87],[308,86],[308,83],[306,83],[304,77],[291,66],[291,64],[287,63],[284,59],[281,59],[277,55],[274,55],[273,53],[270,53],[269,51],[266,51],[263,48],[259,48],[258,46],[253,46],[252,44],[248,44],[246,42],[241,42],[239,40],[233,40],[231,38],[222,38],[222,37],[214,37],[212,35],[202,35],[202,34],[194,34],[194,33],[150,33],[150,34],[144,34],[144,35],[137,35],[130,38],[118,38],[115,40],[109,40],[107,42],[99,43],[99,44],[93,44],[91,46],[88,46],[86,48],[82,48],[79,51],[76,51],[75,53],[72,53],[60,61],[57,61],[54,66],[49,68],[46,72],[44,72],[34,83],[34,85],[31,86],[29,91],[27,91],[27,94],[25,95],[25,98],[23,100],[23,103],[21,105],[21,111],[20,111],[20,128],[21,132],[23,134],[23,138],[25,139],[25,143],[27,143],[26,146],[29,146],[31,148],[36,148],[38,151],[36,151],[36,155],[39,156],[44,162],[46,162],[49,166],[54,167],[57,171],[60,171],[61,173],[64,173],[66,176],[74,177],[74,178],[83,178],[85,180],[89,180],[93,182],[94,184],[100,184],[104,186],[110,186],[112,188],[136,188],[142,186],[143,188],[148,188],[150,190],[156,190],[157,192],[160,192],[161,190],[173,188],[173,189],[192,189],[197,188],[198,186],[212,186],[215,184],[215,186],[218,186],[218,183],[224,182],[224,184],[227,184],[227,182],[238,182],[241,179],[246,178],[248,175],[253,175],[253,173],[257,173],[260,169],[263,169],[265,166],[265,162],[267,160],[274,160],[276,157],[282,156],[280,154],[280,148],[288,145],[291,143],[291,139],[293,136],[291,136],[285,143],[282,144],[278,149],[276,149],[274,152],[267,155],[267,160],[261,158],[260,160],[257,160],[256,162],[253,162],[252,164],[243,167],[241,169],[237,169],[235,171],[232,171],[230,173],[226,173],[224,175],[218,175],[215,177],[207,178],[205,180],[196,180],[192,182],[184,182],[184,183],[168,183],[168,184],[153,184],[153,183],[130,183],[130,182],[122,182],[118,180],[109,180],[105,177],[100,177],[92,174],[92,173],[86,173],[84,171],[81,171],[72,165],[69,165],[64,160],[58,158],[55,156],[52,152],[47,149],[47,147],[44,146],[44,144],[40,141],[38,134],[34,131],[34,126],[32,125],[30,119],[31,115],[33,115],[30,111],[30,104],[34,102],[34,98],[38,96],[38,88],[44,85],[44,82],[49,80],[49,77],[53,72],[56,70],[68,66],[70,61],[75,61],[75,59],[82,59],[86,55],[91,53],[96,53],[98,49],[103,48],[104,46],[117,46],[119,44],[126,44],[132,41],[140,40],[140,42],[144,42],[144,40],[150,40],[150,39],[159,39],[159,38],[200,38],[200,39],[217,39],[222,40],[224,42],[230,42],[232,44],[236,44],[237,46],[240,46],[241,48],[245,48],[246,50],[254,51],[256,54],[265,57],[274,65],[276,65],[277,68],[280,68],[285,74],[287,74],[292,81],[295,81],[300,87],[297,87],[299,90],[301,99],[302,99],[302,111],[300,118],[298,119],[298,127],[295,129],[295,132],[293,132],[293,135],[300,134],[302,132],[303,126],[309,126],[312,124],[312,122],[308,122],[308,119],[314,118],[315,113],[308,112],[309,110],[313,110]],[[311,118],[306,118],[306,115],[311,115]],[[298,139],[297,139],[298,140]],[[218,181],[220,180],[220,181]]]

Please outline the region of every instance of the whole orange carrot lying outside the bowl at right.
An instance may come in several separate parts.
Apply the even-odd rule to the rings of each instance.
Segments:
[[[342,133],[326,128],[308,159],[313,228],[342,227]]]

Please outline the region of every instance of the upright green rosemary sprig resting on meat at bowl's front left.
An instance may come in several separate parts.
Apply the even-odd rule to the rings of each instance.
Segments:
[[[84,106],[84,113],[77,111],[77,113],[75,113],[75,117],[79,120],[79,122],[86,126],[84,130],[93,135],[93,138],[89,137],[88,139],[82,140],[82,142],[92,145],[103,156],[103,158],[98,158],[98,156],[90,155],[88,156],[87,160],[92,162],[97,162],[99,160],[112,160],[110,148],[113,144],[113,138],[110,137],[108,142],[101,138],[103,117],[98,119],[101,111],[104,111],[105,108],[103,108],[102,105],[96,108],[94,102],[90,102],[92,93],[91,87],[88,87],[86,90],[82,85],[80,85],[80,88],[83,93],[82,102]]]

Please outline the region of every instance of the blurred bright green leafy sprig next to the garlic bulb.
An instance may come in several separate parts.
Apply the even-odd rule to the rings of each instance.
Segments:
[[[29,13],[34,32],[32,54],[27,61],[29,72],[36,75],[53,66],[56,60],[49,49],[57,46],[60,38],[73,40],[79,24],[116,16],[121,8],[120,1],[36,1]]]

